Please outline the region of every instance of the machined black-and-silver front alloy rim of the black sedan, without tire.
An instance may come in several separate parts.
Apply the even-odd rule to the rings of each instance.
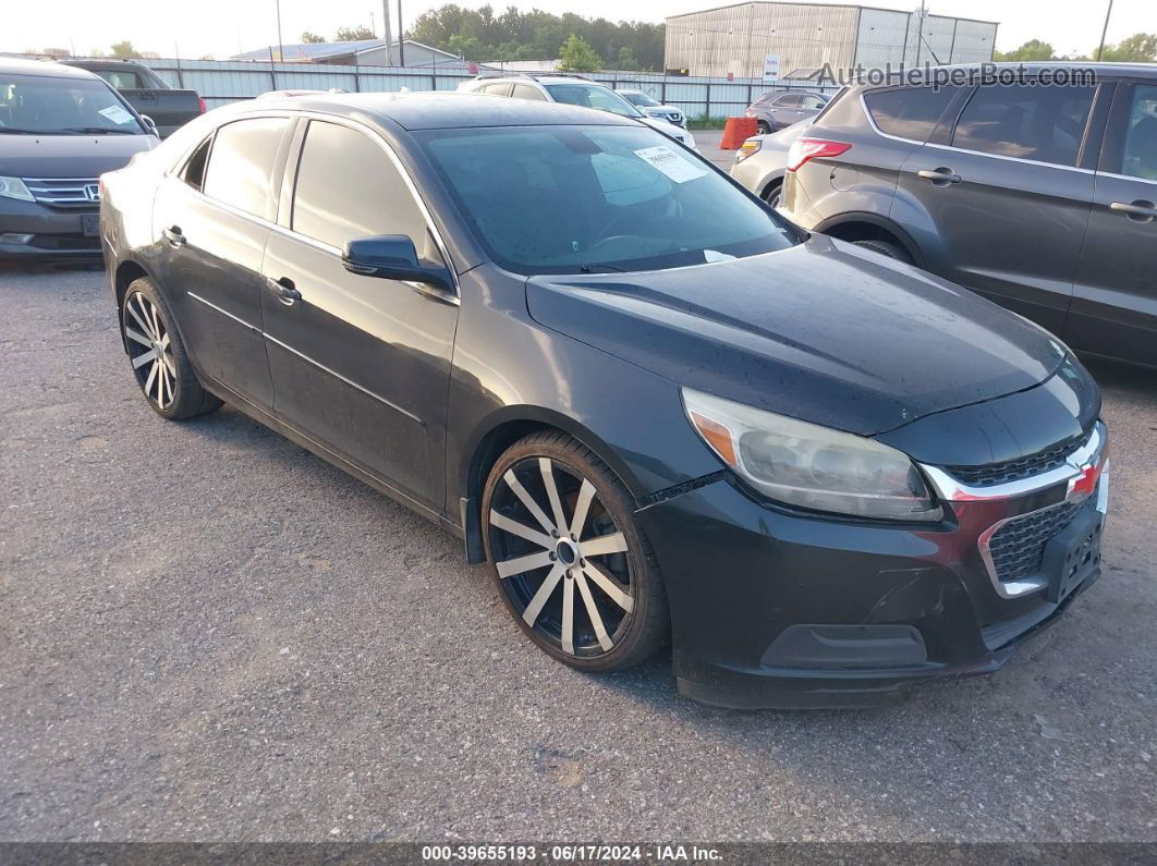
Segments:
[[[578,471],[546,457],[510,466],[488,533],[502,590],[539,639],[590,659],[627,634],[636,607],[627,538]]]

